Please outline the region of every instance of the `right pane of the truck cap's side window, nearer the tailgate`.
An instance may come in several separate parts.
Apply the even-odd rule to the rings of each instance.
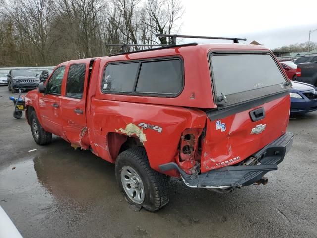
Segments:
[[[143,62],[136,92],[177,94],[182,89],[180,60]]]

